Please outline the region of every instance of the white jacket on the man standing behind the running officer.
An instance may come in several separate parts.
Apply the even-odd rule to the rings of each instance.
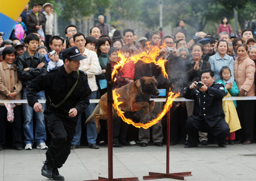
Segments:
[[[85,71],[85,73],[88,75],[90,89],[92,91],[97,91],[98,86],[95,75],[101,74],[101,66],[100,62],[98,61],[98,56],[95,52],[86,48],[84,53],[82,53],[82,56],[87,58],[80,61],[81,65],[79,69]]]

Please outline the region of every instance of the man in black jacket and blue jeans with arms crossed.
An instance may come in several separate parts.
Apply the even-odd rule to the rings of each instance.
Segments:
[[[30,34],[25,38],[27,51],[18,57],[16,61],[16,68],[18,78],[22,81],[23,96],[22,99],[27,99],[27,81],[36,78],[38,75],[46,72],[46,58],[43,54],[37,53],[39,39],[38,36]],[[38,99],[46,99],[44,91],[37,94]],[[33,109],[28,104],[22,104],[24,116],[24,135],[25,135],[25,150],[32,150],[34,141],[36,142],[37,149],[47,149],[46,141],[46,125],[44,122],[44,115],[42,112],[36,113],[36,129],[35,140],[33,133]],[[43,110],[46,104],[43,104]]]

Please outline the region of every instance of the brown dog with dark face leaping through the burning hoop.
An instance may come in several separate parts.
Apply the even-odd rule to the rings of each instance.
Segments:
[[[155,102],[150,100],[150,96],[155,98],[159,95],[157,89],[158,82],[154,77],[142,77],[135,82],[118,88],[115,92],[119,94],[118,102],[123,102],[119,105],[122,111],[139,111],[144,115],[151,113],[154,110]],[[117,117],[117,113],[113,108],[113,117]],[[101,96],[100,102],[95,107],[92,114],[85,121],[92,123],[96,120],[96,132],[100,132],[100,119],[106,120],[108,118],[108,92]]]

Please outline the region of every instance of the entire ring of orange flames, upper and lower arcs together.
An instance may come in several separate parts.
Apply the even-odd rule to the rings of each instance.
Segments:
[[[118,71],[123,68],[123,66],[128,62],[128,61],[133,61],[135,64],[139,60],[145,62],[146,64],[154,63],[155,65],[158,65],[159,68],[162,70],[162,74],[164,78],[168,79],[168,75],[166,73],[166,68],[164,66],[164,63],[167,60],[164,60],[163,57],[160,57],[158,61],[156,61],[156,57],[159,56],[160,54],[160,48],[163,47],[154,47],[150,45],[150,42],[147,43],[147,46],[151,49],[150,51],[147,52],[142,52],[141,54],[137,54],[133,57],[126,58],[125,56],[122,55],[121,52],[118,52],[118,57],[120,57],[120,61],[117,62],[117,64],[114,65],[113,71],[112,71],[112,81],[115,82],[116,78],[115,75],[118,74]],[[164,46],[165,47],[165,46]],[[122,118],[123,121],[125,121],[127,124],[132,124],[134,127],[137,128],[150,128],[152,125],[158,123],[160,120],[163,119],[164,115],[166,115],[167,111],[170,110],[172,107],[172,102],[174,101],[175,98],[177,98],[180,95],[180,92],[178,94],[175,94],[174,92],[170,91],[168,92],[168,97],[166,98],[166,104],[164,104],[163,110],[158,114],[158,116],[155,117],[155,119],[152,119],[148,121],[147,123],[134,123],[133,120],[127,119],[123,113],[123,111],[120,110],[118,107],[122,102],[118,102],[119,94],[116,94],[115,90],[113,91],[113,107],[115,111],[117,111],[117,115]]]

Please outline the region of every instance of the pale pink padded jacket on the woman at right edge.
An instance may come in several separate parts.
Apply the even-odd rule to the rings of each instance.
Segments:
[[[255,96],[254,84],[255,63],[248,56],[239,58],[234,61],[234,77],[238,89],[247,92],[246,96]]]

